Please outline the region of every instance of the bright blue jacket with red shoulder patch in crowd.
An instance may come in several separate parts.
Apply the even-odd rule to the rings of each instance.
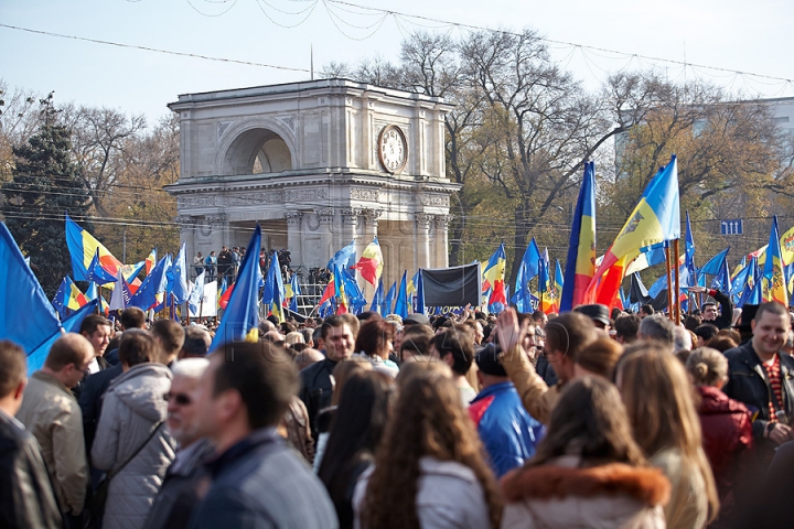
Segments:
[[[544,425],[526,411],[511,381],[482,390],[469,406],[469,413],[496,477],[535,455],[535,445],[546,433]]]

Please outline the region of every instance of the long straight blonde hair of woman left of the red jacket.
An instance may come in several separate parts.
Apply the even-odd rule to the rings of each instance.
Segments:
[[[676,449],[685,472],[702,476],[711,522],[719,512],[719,498],[686,370],[662,344],[645,342],[630,349],[618,365],[616,378],[634,439],[648,457]]]

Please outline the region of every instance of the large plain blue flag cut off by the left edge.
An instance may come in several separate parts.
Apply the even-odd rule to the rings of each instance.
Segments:
[[[30,354],[61,323],[6,223],[0,225],[0,336]]]

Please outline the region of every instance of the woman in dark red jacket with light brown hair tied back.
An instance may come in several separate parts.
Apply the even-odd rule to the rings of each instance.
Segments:
[[[719,521],[725,526],[734,505],[733,485],[741,478],[752,449],[752,417],[744,404],[721,391],[728,381],[728,360],[722,353],[699,347],[691,352],[686,367],[700,397],[704,450],[719,493]]]

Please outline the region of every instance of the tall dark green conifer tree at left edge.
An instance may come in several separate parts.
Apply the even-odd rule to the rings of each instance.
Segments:
[[[58,125],[52,94],[41,105],[39,131],[25,144],[13,148],[15,163],[11,181],[2,186],[2,215],[22,252],[30,257],[44,291],[52,296],[64,276],[71,273],[63,214],[82,220],[90,197],[72,162],[72,132]]]

